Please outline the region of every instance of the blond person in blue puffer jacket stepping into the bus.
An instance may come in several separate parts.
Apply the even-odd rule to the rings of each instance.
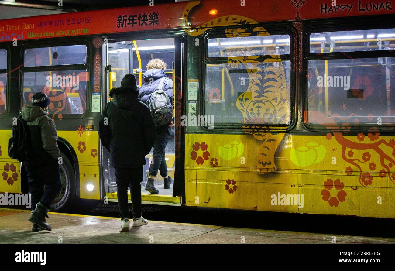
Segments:
[[[139,89],[140,101],[148,105],[150,95],[155,92],[159,86],[160,79],[167,77],[165,70],[167,64],[159,58],[152,59],[147,64],[147,71],[144,73],[144,84]],[[168,78],[164,82],[164,89],[170,100],[173,101],[173,81]],[[156,126],[156,139],[154,143],[154,151],[152,153],[152,162],[150,164],[148,173],[149,178],[145,190],[151,194],[158,194],[159,191],[154,186],[154,178],[158,174],[164,178],[164,188],[170,188],[172,179],[167,175],[167,166],[165,159],[165,149],[167,142],[171,138],[171,126],[174,126],[173,122],[169,122],[162,126]]]

